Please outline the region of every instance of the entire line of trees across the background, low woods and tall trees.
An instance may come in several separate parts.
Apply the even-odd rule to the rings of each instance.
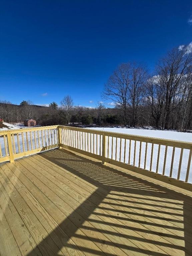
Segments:
[[[114,108],[98,101],[94,108],[74,106],[71,96],[60,105],[36,106],[30,101],[20,105],[0,103],[0,115],[7,122],[33,118],[40,125],[97,124],[151,126],[157,129],[192,130],[192,50],[175,48],[160,59],[152,74],[146,66],[130,62],[118,66],[104,85],[103,101],[112,100]]]

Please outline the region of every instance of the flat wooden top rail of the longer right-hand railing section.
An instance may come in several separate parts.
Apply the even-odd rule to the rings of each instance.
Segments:
[[[125,134],[125,133],[118,133],[118,132],[107,132],[107,131],[101,131],[101,130],[95,130],[95,129],[92,130],[92,129],[87,129],[87,128],[79,128],[79,127],[72,127],[72,126],[65,126],[65,125],[59,125],[59,127],[60,128],[65,128],[65,129],[70,129],[70,130],[95,133],[95,134],[100,134],[100,135],[105,134],[106,136],[110,136],[110,137],[136,140],[136,141],[160,144],[160,145],[165,145],[165,146],[170,146],[170,147],[192,149],[192,143],[191,142],[186,142],[186,141],[160,139],[160,138]]]

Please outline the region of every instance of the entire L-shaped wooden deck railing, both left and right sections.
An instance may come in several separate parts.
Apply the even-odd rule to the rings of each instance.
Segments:
[[[0,162],[60,147],[103,164],[192,188],[189,142],[56,125],[1,131],[0,145]]]

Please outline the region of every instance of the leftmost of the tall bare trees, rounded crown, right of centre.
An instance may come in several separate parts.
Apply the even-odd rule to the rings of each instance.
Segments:
[[[121,64],[105,84],[104,97],[111,99],[122,109],[124,125],[127,124],[127,108],[131,108],[131,124],[136,126],[138,107],[144,95],[147,71],[136,63]]]

